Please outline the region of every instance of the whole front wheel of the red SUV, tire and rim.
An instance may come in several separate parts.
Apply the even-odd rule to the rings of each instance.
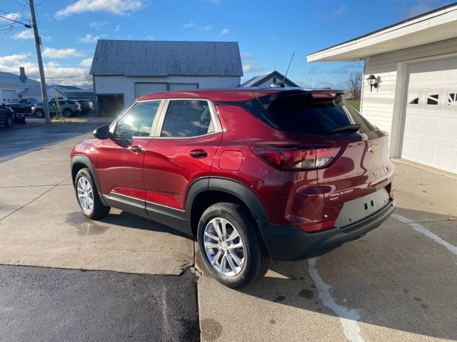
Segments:
[[[79,207],[89,219],[101,219],[109,213],[110,207],[101,202],[94,178],[89,169],[79,170],[74,180],[74,189]]]

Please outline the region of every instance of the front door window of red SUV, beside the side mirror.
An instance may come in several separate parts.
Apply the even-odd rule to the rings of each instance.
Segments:
[[[149,137],[161,101],[135,103],[116,124],[116,138]]]

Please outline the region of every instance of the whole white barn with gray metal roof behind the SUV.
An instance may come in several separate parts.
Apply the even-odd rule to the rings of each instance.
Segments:
[[[146,93],[237,87],[236,42],[99,40],[91,66],[99,111],[113,113]]]

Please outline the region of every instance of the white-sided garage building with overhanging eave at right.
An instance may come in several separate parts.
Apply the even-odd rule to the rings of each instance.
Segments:
[[[307,59],[364,60],[361,113],[391,134],[391,156],[457,173],[455,3]]]

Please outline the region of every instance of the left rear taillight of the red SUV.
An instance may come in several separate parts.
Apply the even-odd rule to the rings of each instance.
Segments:
[[[253,146],[251,150],[269,165],[281,170],[311,170],[326,167],[338,155],[340,147],[284,148]]]

